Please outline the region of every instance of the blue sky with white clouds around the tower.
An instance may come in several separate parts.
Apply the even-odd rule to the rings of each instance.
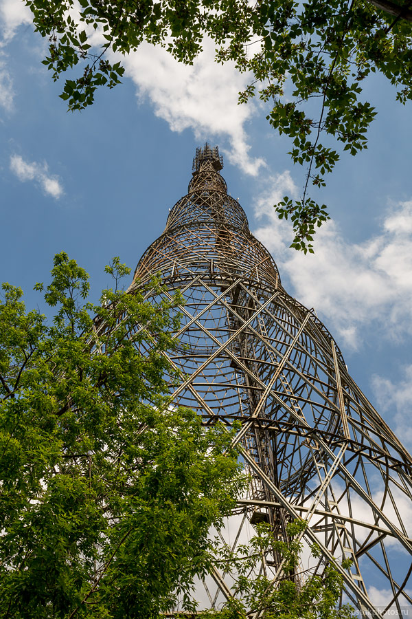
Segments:
[[[332,221],[305,257],[288,248],[290,228],[271,208],[285,193],[299,195],[304,172],[265,108],[237,105],[247,76],[214,65],[211,47],[183,67],[144,45],[126,59],[122,85],[67,113],[23,3],[0,1],[0,28],[2,281],[21,285],[27,305],[41,304],[32,287],[65,250],[91,274],[97,299],[111,257],[135,268],[161,234],[187,191],[196,146],[218,144],[229,192],[286,289],[317,310],[356,382],[411,448],[411,107],[396,103],[382,78],[365,85],[378,109],[369,149],[344,154],[328,179],[319,200]]]

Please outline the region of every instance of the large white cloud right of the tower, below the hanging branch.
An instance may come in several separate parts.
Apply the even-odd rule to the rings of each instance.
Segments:
[[[380,232],[362,243],[346,241],[328,221],[314,239],[315,253],[305,256],[288,248],[291,226],[273,209],[284,193],[297,193],[288,172],[258,197],[256,215],[264,223],[255,235],[273,252],[281,276],[288,274],[289,292],[354,349],[367,326],[392,340],[412,334],[412,202],[391,207]]]

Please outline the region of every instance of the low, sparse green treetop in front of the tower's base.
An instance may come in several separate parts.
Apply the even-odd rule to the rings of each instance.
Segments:
[[[226,549],[220,561],[222,569],[230,565],[238,572],[235,597],[218,611],[201,613],[200,619],[354,619],[350,605],[339,607],[343,578],[334,565],[326,565],[321,575],[299,569],[305,528],[302,520],[288,523],[288,541],[283,541],[275,539],[268,524],[260,523],[249,545],[238,547],[237,552]],[[258,569],[262,554],[273,551],[283,561],[282,576],[275,585]],[[316,546],[312,546],[312,554],[319,556]],[[344,559],[342,565],[349,568],[351,563]]]

